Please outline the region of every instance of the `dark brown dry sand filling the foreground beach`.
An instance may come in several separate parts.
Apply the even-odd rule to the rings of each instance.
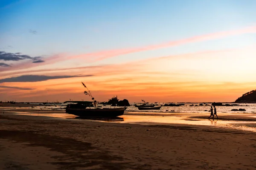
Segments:
[[[1,170],[256,169],[256,133],[250,131],[52,119],[2,109]]]

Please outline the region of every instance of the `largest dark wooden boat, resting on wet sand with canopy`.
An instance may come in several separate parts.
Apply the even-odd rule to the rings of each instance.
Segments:
[[[66,113],[81,117],[116,117],[123,115],[126,108],[87,108],[86,105],[68,104]]]

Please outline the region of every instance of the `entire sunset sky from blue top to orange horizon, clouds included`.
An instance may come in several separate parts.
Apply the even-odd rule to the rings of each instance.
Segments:
[[[234,102],[256,89],[255,0],[1,0],[0,101]]]

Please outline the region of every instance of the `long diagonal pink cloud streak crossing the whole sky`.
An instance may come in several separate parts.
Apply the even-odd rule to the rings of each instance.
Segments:
[[[251,27],[246,27],[246,28],[231,30],[231,31],[221,31],[221,32],[216,32],[216,33],[212,33],[212,34],[205,34],[205,35],[190,37],[190,38],[186,38],[186,39],[182,39],[182,40],[161,43],[158,45],[148,45],[148,46],[144,46],[144,47],[140,47],[140,48],[115,49],[115,50],[109,50],[109,51],[99,51],[99,52],[93,52],[93,53],[88,53],[88,54],[81,54],[81,55],[76,55],[76,56],[67,56],[67,54],[59,54],[59,55],[54,55],[52,57],[46,58],[45,62],[42,62],[42,63],[22,62],[22,63],[18,63],[16,65],[12,65],[12,67],[0,68],[0,71],[15,71],[15,70],[20,70],[20,69],[25,69],[25,68],[34,68],[34,67],[37,67],[38,65],[40,65],[40,66],[41,65],[50,65],[50,64],[59,62],[61,60],[75,59],[75,58],[85,58],[85,59],[93,58],[94,60],[99,61],[99,60],[104,60],[104,59],[108,59],[111,57],[124,55],[124,54],[130,54],[130,53],[135,53],[135,52],[140,52],[140,51],[150,51],[150,50],[155,50],[155,49],[159,49],[159,48],[167,48],[167,47],[172,47],[172,46],[177,46],[177,45],[183,45],[183,44],[191,43],[191,42],[214,40],[214,39],[224,38],[224,37],[228,37],[228,36],[239,35],[239,34],[248,34],[248,33],[256,33],[256,26],[251,26]],[[57,70],[64,71],[64,70],[68,70],[68,69],[72,70],[72,69],[79,69],[79,68],[65,68],[65,69],[57,69]],[[82,69],[82,67],[81,67],[81,69]],[[31,71],[31,72],[39,72],[39,71],[56,71],[56,70],[48,69],[48,70],[38,70],[38,71]],[[26,73],[26,72],[28,73],[30,71],[23,71],[23,73]],[[19,72],[19,73],[21,73],[21,72]],[[12,73],[3,73],[3,74],[12,74]]]

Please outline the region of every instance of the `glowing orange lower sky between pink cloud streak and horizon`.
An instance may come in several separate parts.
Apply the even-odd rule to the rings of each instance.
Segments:
[[[256,46],[256,45],[255,45]],[[0,100],[46,102],[89,100],[81,81],[98,101],[112,96],[130,102],[233,102],[255,87],[255,46],[221,51],[199,51],[189,54],[138,59],[113,65],[73,69],[20,69],[1,72],[8,78],[33,75],[93,75],[49,79],[39,82],[2,82],[1,86],[32,88],[19,90],[0,88]],[[72,60],[71,60],[72,61]],[[55,63],[51,64],[54,65]],[[42,67],[44,67],[43,65]],[[53,66],[52,66],[53,67]],[[51,68],[51,66],[47,66]],[[6,74],[9,73],[9,74]]]

